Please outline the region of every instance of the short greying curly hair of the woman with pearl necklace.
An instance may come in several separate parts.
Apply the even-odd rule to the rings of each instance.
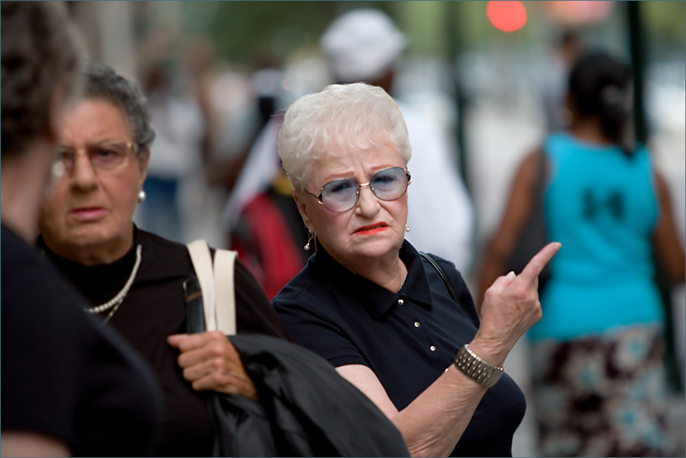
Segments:
[[[136,151],[139,158],[144,160],[155,139],[147,100],[134,82],[117,75],[111,67],[84,59],[83,68],[84,97],[109,102],[126,114]]]

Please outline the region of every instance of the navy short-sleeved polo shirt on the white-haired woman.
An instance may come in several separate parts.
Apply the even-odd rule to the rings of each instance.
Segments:
[[[407,278],[399,293],[392,293],[348,271],[317,244],[307,266],[273,300],[296,343],[334,367],[370,367],[399,411],[443,374],[479,325],[454,264],[432,256],[459,305],[407,240],[400,257]],[[504,374],[486,391],[451,456],[512,456],[512,435],[525,407],[523,393]]]

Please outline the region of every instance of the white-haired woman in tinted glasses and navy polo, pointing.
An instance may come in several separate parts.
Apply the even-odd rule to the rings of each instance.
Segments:
[[[273,304],[296,343],[366,393],[413,456],[511,455],[525,400],[502,365],[541,318],[538,275],[560,244],[499,277],[477,314],[454,265],[404,240],[411,154],[379,87],[334,84],[288,108],[279,155],[317,252]]]

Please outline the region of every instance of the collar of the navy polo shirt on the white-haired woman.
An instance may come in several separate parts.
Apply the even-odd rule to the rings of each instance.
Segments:
[[[327,253],[322,244],[317,242],[316,246],[317,252],[310,262],[314,262],[315,271],[321,279],[338,286],[340,291],[362,304],[375,319],[398,304],[399,299],[409,299],[414,304],[431,308],[433,297],[431,297],[431,288],[429,288],[429,279],[424,270],[424,263],[418,251],[407,240],[403,242],[399,253],[400,259],[407,267],[407,277],[405,277],[405,283],[398,293],[392,293],[386,288],[348,271]]]

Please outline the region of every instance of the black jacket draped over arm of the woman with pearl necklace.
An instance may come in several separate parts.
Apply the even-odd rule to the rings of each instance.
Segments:
[[[217,396],[224,456],[409,456],[386,415],[316,354],[268,336],[230,340],[260,403]]]

